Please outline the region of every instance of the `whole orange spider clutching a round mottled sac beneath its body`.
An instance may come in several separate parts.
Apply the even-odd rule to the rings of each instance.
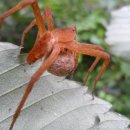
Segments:
[[[109,54],[103,51],[103,48],[97,45],[91,45],[86,43],[80,44],[79,42],[76,41],[77,33],[75,26],[54,29],[53,18],[51,15],[50,8],[45,7],[44,14],[41,15],[37,0],[24,0],[23,2],[19,3],[18,5],[16,5],[12,9],[1,15],[0,25],[7,16],[13,14],[14,12],[28,5],[32,6],[36,19],[33,20],[32,23],[23,32],[21,40],[21,48],[23,46],[26,33],[34,25],[37,25],[38,26],[37,38],[34,47],[27,56],[27,63],[32,64],[33,62],[42,57],[44,57],[44,62],[31,77],[31,80],[28,83],[28,86],[22,97],[22,100],[15,111],[9,130],[13,129],[14,123],[16,122],[16,119],[18,118],[27,97],[29,96],[32,88],[34,87],[35,82],[40,78],[43,72],[48,70],[49,72],[55,75],[65,76],[75,71],[78,65],[79,53],[94,56],[96,57],[96,59],[91,65],[90,69],[88,70],[88,74],[85,77],[85,83],[86,83],[90,73],[93,71],[99,60],[103,58],[104,62],[101,67],[101,70],[99,71],[97,77],[94,80],[94,87],[92,90],[92,95],[94,98],[96,83],[110,62],[110,56]],[[46,30],[45,28],[45,20],[47,20],[48,23],[48,30]]]

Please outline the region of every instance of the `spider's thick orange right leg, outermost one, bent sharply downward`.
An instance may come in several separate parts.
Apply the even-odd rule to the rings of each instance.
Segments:
[[[94,56],[94,57],[100,57],[105,59],[103,62],[103,65],[98,73],[98,75],[96,76],[95,80],[94,80],[94,87],[92,89],[92,97],[94,99],[94,92],[96,89],[96,84],[97,81],[100,79],[101,75],[103,74],[103,72],[105,71],[106,67],[108,66],[109,62],[110,62],[110,56],[109,54],[101,51],[101,50],[96,50],[94,48],[89,48],[86,44],[78,44],[75,42],[72,43],[68,43],[68,44],[61,44],[62,47],[70,49],[72,51],[75,51],[76,53],[81,53],[81,54],[85,54],[85,55],[90,55],[90,56]]]

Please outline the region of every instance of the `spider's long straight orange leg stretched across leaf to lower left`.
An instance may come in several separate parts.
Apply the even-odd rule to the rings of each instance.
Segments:
[[[13,120],[11,122],[11,125],[10,125],[10,128],[9,130],[12,130],[13,126],[14,126],[14,123],[16,122],[20,112],[21,112],[21,109],[23,108],[24,106],[24,103],[27,99],[27,97],[29,96],[31,90],[33,89],[34,87],[34,84],[37,80],[39,80],[40,76],[48,69],[48,67],[56,60],[56,58],[58,57],[58,54],[60,53],[60,48],[55,45],[54,46],[54,49],[52,51],[52,53],[50,54],[50,56],[45,60],[44,63],[42,63],[42,65],[40,66],[40,68],[33,74],[33,76],[31,77],[31,80],[29,81],[28,83],[28,86],[25,90],[25,93],[22,97],[22,100],[20,101],[20,104],[19,106],[17,107],[16,111],[15,111],[15,114],[13,116]]]

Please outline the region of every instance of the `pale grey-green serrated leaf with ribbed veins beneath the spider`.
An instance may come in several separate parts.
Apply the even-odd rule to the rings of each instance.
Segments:
[[[9,129],[25,87],[42,63],[27,65],[19,53],[19,47],[0,43],[1,130]],[[46,72],[35,84],[13,130],[128,130],[130,121],[110,109],[108,102],[92,100],[80,83]]]

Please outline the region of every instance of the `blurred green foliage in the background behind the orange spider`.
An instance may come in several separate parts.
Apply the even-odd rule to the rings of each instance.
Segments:
[[[4,0],[0,2],[0,14],[16,5],[21,0]],[[10,4],[7,4],[10,3]],[[129,0],[38,0],[41,11],[49,5],[53,11],[55,27],[77,26],[80,42],[95,43],[103,46],[109,53],[105,43],[105,31],[110,20],[110,11],[130,4]],[[20,43],[22,31],[34,18],[32,9],[27,7],[7,18],[0,29],[0,40]],[[26,37],[24,52],[28,52],[34,44],[37,28],[33,28]],[[94,58],[81,55],[74,79],[83,82],[88,68]],[[102,61],[95,68],[88,80],[93,86]],[[111,63],[97,84],[96,95],[113,104],[114,109],[130,118],[130,65],[111,55]]]

